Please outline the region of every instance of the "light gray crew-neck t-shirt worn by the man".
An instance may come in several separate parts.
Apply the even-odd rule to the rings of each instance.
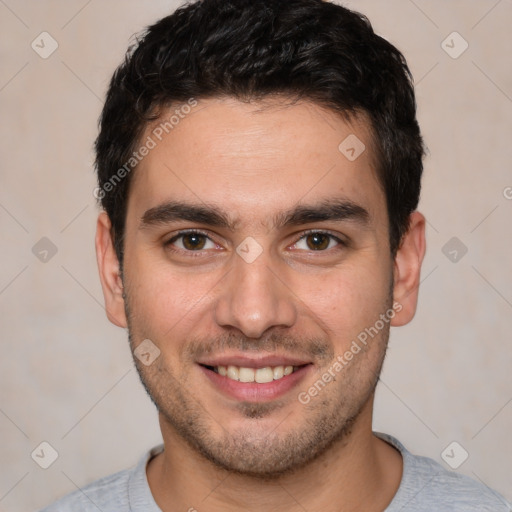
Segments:
[[[400,487],[384,512],[512,511],[502,496],[485,485],[448,471],[433,459],[411,454],[392,436],[375,435],[397,448],[404,463]],[[40,512],[161,512],[149,488],[146,465],[162,450],[163,445],[154,447],[135,467],[96,480]]]

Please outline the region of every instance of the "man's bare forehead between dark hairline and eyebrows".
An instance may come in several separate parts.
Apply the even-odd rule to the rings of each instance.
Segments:
[[[369,123],[316,104],[232,98],[175,105],[146,128],[152,149],[128,215],[169,201],[216,205],[233,224],[265,225],[297,204],[344,198],[385,215]]]

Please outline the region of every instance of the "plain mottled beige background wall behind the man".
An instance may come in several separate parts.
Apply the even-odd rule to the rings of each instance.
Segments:
[[[419,310],[392,331],[375,429],[445,466],[457,441],[457,471],[512,499],[512,2],[345,3],[408,58],[431,153]],[[103,311],[92,143],[130,37],[177,5],[0,1],[2,511],[35,510],[160,442],[126,333]],[[31,48],[42,31],[59,44],[48,59]],[[441,47],[453,31],[469,43],[457,59]],[[454,236],[468,248],[457,263],[442,252]],[[46,263],[42,237],[57,248]],[[59,453],[46,470],[30,456],[42,441]]]

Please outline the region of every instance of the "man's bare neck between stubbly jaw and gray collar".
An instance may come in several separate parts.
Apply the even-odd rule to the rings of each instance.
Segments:
[[[372,433],[373,396],[351,433],[305,468],[270,482],[229,473],[190,448],[160,415],[165,450],[146,468],[163,512],[382,512],[402,478],[402,457]]]

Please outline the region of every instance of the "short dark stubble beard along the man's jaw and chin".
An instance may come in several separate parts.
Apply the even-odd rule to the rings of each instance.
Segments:
[[[144,338],[134,332],[126,299],[129,342],[133,353],[134,338]],[[357,361],[357,364],[351,362],[341,370],[338,378],[321,390],[317,397],[309,404],[300,406],[298,415],[283,414],[280,410],[285,403],[279,400],[237,404],[233,414],[238,413],[251,422],[247,422],[247,427],[232,432],[228,432],[221,419],[214,418],[200,400],[192,395],[183,375],[174,375],[164,365],[162,356],[150,367],[144,366],[136,357],[134,363],[143,387],[166,426],[192,450],[222,470],[259,480],[271,480],[299,471],[325,455],[335,445],[348,441],[354,424],[373,398],[388,339],[389,325],[379,333],[378,339],[371,341],[372,345],[378,344],[371,358],[367,357],[371,348],[369,344],[366,350],[352,360]],[[316,378],[321,378],[323,371]],[[363,373],[366,377],[361,381]],[[275,426],[266,432],[259,432],[261,429],[258,428],[258,422],[272,415],[277,418],[272,423]],[[297,416],[300,421],[296,421]],[[287,419],[290,420],[288,423]],[[296,426],[289,428],[293,421]],[[285,425],[288,428],[283,432]],[[214,435],[212,430],[221,434]]]

